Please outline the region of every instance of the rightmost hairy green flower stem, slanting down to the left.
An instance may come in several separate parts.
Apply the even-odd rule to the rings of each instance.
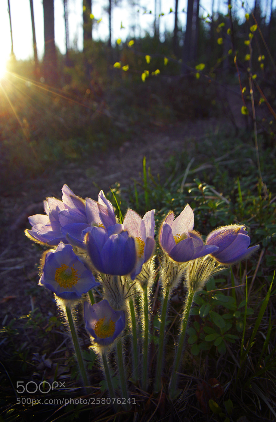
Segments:
[[[172,367],[171,379],[170,379],[170,383],[169,383],[169,396],[170,396],[171,399],[175,398],[175,396],[176,396],[177,379],[178,379],[177,372],[180,369],[182,352],[183,352],[183,344],[184,344],[184,339],[185,339],[185,334],[186,334],[186,328],[187,328],[188,319],[189,319],[189,315],[190,315],[190,309],[191,309],[195,294],[196,293],[192,289],[188,290],[188,294],[187,294],[187,297],[186,297],[186,302],[185,302],[185,306],[184,306],[184,310],[183,310],[183,314],[182,314],[181,327],[180,327],[180,333],[179,333],[178,345],[177,345],[177,352],[174,356],[174,364],[173,364],[173,367]]]

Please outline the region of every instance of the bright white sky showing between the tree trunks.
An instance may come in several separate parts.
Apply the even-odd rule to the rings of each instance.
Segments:
[[[249,0],[252,3],[254,0]],[[268,0],[270,3],[271,0]],[[272,0],[273,1],[273,0]],[[68,0],[69,12],[69,36],[70,47],[75,44],[78,49],[82,49],[83,30],[82,30],[82,3],[83,0]],[[129,24],[137,22],[140,26],[141,35],[145,30],[150,30],[153,27],[154,20],[154,0],[140,0],[140,6],[129,6],[128,0],[121,0],[120,6],[113,7],[113,23],[112,23],[112,42],[121,38],[125,41],[128,35],[133,36]],[[160,32],[164,30],[172,31],[174,27],[174,13],[169,14],[170,8],[174,10],[175,0],[157,0],[158,5],[161,3],[160,12],[165,16],[160,17]],[[200,9],[200,14],[206,16],[211,14],[212,0],[201,0],[204,8]],[[226,6],[223,0],[214,0],[214,10],[220,8],[225,13]],[[241,0],[236,0],[236,4],[240,6]],[[33,0],[34,16],[35,16],[35,32],[37,40],[38,58],[43,57],[44,51],[44,33],[43,33],[43,1]],[[108,14],[103,10],[107,7],[108,0],[92,0],[92,13],[95,19],[102,18],[99,24],[94,24],[93,38],[107,40],[108,38]],[[32,48],[32,24],[29,0],[10,0],[11,6],[11,25],[13,30],[13,51],[17,60],[25,60],[33,57]],[[182,9],[187,10],[187,0],[179,0],[179,27],[185,27],[186,14],[182,13]],[[139,10],[139,11],[138,11]],[[143,14],[143,12],[151,10],[150,14]],[[248,8],[247,8],[248,11]],[[159,12],[159,10],[158,10]],[[65,53],[65,28],[64,28],[64,8],[63,0],[54,0],[54,14],[55,14],[55,41],[56,46],[64,54]],[[134,18],[135,16],[135,18]],[[244,16],[244,13],[241,15]],[[125,29],[121,29],[121,22]],[[139,33],[136,33],[139,35]],[[0,55],[1,57],[8,57],[11,53],[11,37],[10,37],[10,23],[8,17],[8,0],[0,0]],[[5,41],[4,41],[5,40]]]

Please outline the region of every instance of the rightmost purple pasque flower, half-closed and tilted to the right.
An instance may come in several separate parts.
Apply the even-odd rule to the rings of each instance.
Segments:
[[[250,238],[244,226],[230,225],[212,231],[206,238],[206,245],[215,245],[217,251],[212,252],[212,257],[225,265],[234,264],[248,258],[256,252],[259,245],[251,246]]]

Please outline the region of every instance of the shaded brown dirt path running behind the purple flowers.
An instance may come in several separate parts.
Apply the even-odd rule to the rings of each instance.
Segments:
[[[53,303],[51,293],[37,287],[41,248],[24,235],[24,229],[29,227],[27,217],[43,214],[46,197],[61,198],[63,184],[76,195],[95,200],[100,189],[107,192],[115,182],[131,187],[133,179],[139,180],[144,156],[152,174],[159,173],[165,181],[169,176],[165,164],[171,155],[183,149],[188,153],[191,143],[222,126],[225,122],[206,119],[143,131],[119,149],[86,157],[81,168],[77,163],[48,168],[43,176],[18,181],[12,191],[4,191],[0,200],[0,323],[25,315],[35,307],[47,314]]]

